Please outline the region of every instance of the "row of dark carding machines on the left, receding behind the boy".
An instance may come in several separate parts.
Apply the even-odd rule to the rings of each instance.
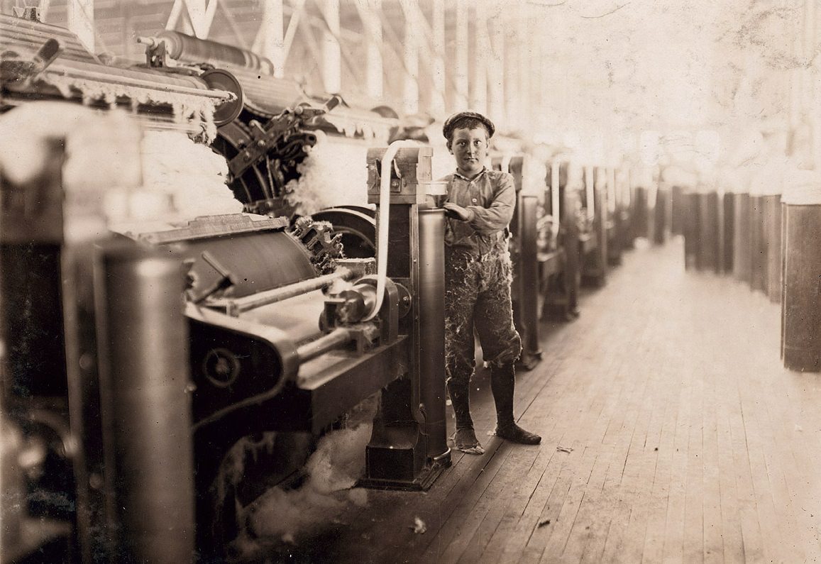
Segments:
[[[145,131],[209,143],[242,212],[114,226],[99,204],[113,186],[92,165],[69,187],[63,166],[101,141],[67,146],[67,133],[24,174],[0,169],[2,562],[218,560],[237,504],[260,493],[225,480],[232,447],[264,443],[240,470],[287,484],[376,392],[360,484],[425,489],[451,462],[433,149],[386,146],[395,116],[305,94],[254,53],[176,32],[140,41],[143,66],[111,66],[67,30],[0,16],[2,135],[29,136],[9,118],[44,101],[126,108]],[[323,134],[361,154],[362,199],[306,214],[294,193]],[[527,158],[493,166],[521,189]],[[143,177],[154,166],[133,159]],[[542,314],[572,317],[580,282],[603,284],[640,231],[629,179],[579,170],[548,163],[511,224],[529,368]]]

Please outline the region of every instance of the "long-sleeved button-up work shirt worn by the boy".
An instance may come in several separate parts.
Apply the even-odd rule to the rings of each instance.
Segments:
[[[470,210],[473,216],[466,222],[446,218],[445,245],[479,256],[504,249],[505,228],[516,206],[511,173],[484,168],[473,180],[454,172],[443,181],[447,181],[447,201]]]

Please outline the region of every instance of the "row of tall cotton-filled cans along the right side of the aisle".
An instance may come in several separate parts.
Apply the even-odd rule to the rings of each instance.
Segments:
[[[819,186],[814,172],[789,167],[672,186],[686,268],[735,277],[780,304],[784,366],[810,372],[821,371]]]

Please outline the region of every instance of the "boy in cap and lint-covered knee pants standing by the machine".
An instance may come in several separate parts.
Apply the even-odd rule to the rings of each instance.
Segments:
[[[496,435],[521,444],[542,440],[521,429],[513,417],[514,363],[521,353],[521,338],[513,326],[507,224],[513,217],[516,188],[510,173],[484,167],[493,131],[493,123],[475,112],[457,113],[443,127],[447,149],[456,158],[456,172],[445,178],[447,392],[456,413],[454,446],[470,454],[484,452],[470,418],[474,329],[490,366]]]

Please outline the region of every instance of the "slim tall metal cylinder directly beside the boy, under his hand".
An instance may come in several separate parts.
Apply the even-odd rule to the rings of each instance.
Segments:
[[[420,402],[429,459],[447,455],[445,410],[445,212],[419,210]]]

